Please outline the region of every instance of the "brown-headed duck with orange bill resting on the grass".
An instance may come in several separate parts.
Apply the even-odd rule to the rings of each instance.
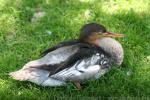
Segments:
[[[108,32],[103,25],[85,24],[80,29],[79,39],[45,50],[41,58],[9,75],[41,86],[66,86],[71,81],[80,90],[83,81],[99,79],[113,66],[122,64],[123,47],[114,39],[121,37],[124,34]]]

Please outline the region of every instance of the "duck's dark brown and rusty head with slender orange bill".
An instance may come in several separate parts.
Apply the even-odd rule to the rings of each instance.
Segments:
[[[124,37],[124,35],[108,32],[103,25],[96,23],[85,24],[80,29],[79,39],[81,42],[97,45],[97,40],[104,37],[120,38]]]

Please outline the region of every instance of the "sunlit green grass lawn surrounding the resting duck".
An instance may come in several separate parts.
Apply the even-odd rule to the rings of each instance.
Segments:
[[[31,22],[37,9],[46,14]],[[0,99],[148,97],[149,11],[149,0],[0,0]],[[85,12],[90,15],[85,16]],[[77,38],[80,27],[89,22],[126,34],[126,38],[119,39],[125,52],[120,68],[99,80],[85,82],[82,91],[75,90],[72,84],[41,87],[8,76],[28,61],[38,59],[46,48]]]

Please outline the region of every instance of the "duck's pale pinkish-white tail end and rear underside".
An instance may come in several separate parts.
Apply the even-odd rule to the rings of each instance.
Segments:
[[[21,69],[9,73],[9,75],[19,81],[30,81],[41,86],[62,86],[64,81],[48,77],[49,72],[41,69]]]

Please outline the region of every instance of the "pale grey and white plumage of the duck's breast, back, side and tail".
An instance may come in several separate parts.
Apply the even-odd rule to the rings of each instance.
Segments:
[[[112,63],[121,65],[124,55],[121,44],[114,39],[102,38],[99,40],[99,46],[111,56],[108,57],[103,53],[97,53],[89,58],[79,60],[73,66],[51,76],[49,76],[48,71],[36,68],[40,65],[65,61],[69,56],[77,52],[78,47],[73,45],[59,48],[41,59],[31,61],[23,66],[22,69],[10,73],[10,75],[16,80],[30,81],[42,86],[61,86],[65,85],[67,81],[97,79],[108,72]]]

